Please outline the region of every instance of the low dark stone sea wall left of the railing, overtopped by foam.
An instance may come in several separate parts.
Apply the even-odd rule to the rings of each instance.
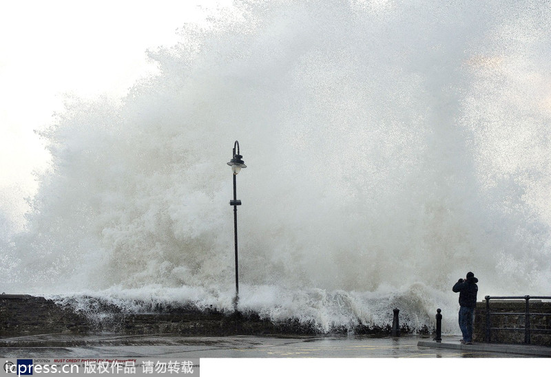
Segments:
[[[403,334],[411,332],[402,325]],[[333,334],[390,334],[391,324],[370,327],[358,324],[354,329],[334,328]],[[151,308],[147,312],[129,313],[109,303],[98,302],[91,312],[59,305],[44,297],[0,295],[0,337],[37,334],[181,334],[183,336],[225,335],[313,335],[321,331],[314,323],[298,319],[273,322],[253,312],[225,313],[199,310],[192,305]]]

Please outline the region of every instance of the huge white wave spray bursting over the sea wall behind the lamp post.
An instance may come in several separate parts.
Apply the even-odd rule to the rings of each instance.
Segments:
[[[0,283],[411,327],[472,270],[486,294],[551,286],[551,6],[238,1],[150,56],[119,103],[73,99]],[[457,329],[456,329],[457,331]]]

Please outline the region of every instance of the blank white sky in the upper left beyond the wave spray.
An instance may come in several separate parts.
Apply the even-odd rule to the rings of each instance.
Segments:
[[[63,94],[124,96],[154,71],[146,50],[173,45],[186,22],[231,0],[21,0],[0,3],[0,210],[25,211],[48,153],[34,130]]]

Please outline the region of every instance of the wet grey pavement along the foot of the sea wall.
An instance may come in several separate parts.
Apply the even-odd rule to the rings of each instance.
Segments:
[[[459,336],[443,342],[458,343]],[[0,339],[3,358],[522,358],[469,349],[419,347],[428,336],[70,336],[48,334]]]

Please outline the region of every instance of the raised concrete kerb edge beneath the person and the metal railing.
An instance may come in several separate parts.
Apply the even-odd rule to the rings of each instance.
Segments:
[[[491,344],[491,343],[475,343],[472,345],[464,345],[460,343],[435,342],[435,341],[419,341],[417,347],[442,348],[442,349],[459,349],[461,351],[472,352],[501,352],[503,354],[523,354],[532,356],[551,357],[551,347],[540,345],[514,345],[514,344]]]

